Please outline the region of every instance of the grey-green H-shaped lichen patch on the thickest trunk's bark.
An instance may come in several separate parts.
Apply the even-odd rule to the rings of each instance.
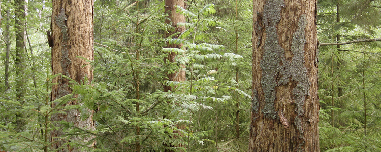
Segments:
[[[307,69],[304,66],[304,43],[305,27],[307,21],[305,15],[301,15],[296,32],[293,34],[291,52],[292,60],[288,61],[284,56],[284,49],[279,45],[277,23],[281,19],[280,11],[284,6],[282,0],[268,1],[264,6],[263,25],[265,26],[266,40],[263,58],[261,60],[262,79],[261,84],[265,96],[265,105],[262,110],[266,118],[275,119],[276,110],[276,87],[287,85],[291,81],[297,83],[293,88],[293,100],[296,105],[295,111],[299,116],[303,115],[303,105],[306,96],[309,95],[310,82],[308,81]],[[277,81],[278,77],[280,79]]]

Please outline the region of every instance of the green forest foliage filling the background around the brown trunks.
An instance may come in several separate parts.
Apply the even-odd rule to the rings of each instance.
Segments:
[[[72,86],[81,106],[62,109],[50,106],[72,101],[67,96],[50,101],[55,77],[46,38],[51,1],[18,2],[1,3],[0,150],[49,150],[49,132],[56,129],[50,116],[71,108],[82,111],[83,118],[88,117],[86,109],[96,111],[96,130],[61,122],[67,138],[95,137],[96,148],[87,147],[91,143],[67,143],[83,150],[134,151],[137,143],[144,151],[247,150],[251,1],[188,1],[181,42],[164,38],[171,26],[165,24],[163,1],[95,1],[94,79],[92,85]],[[27,6],[21,62],[15,49],[19,22],[15,12],[20,5]],[[379,37],[381,1],[322,0],[317,6],[321,44]],[[186,45],[186,52],[172,50],[184,53],[177,63],[163,60],[170,51],[163,49],[166,42]],[[319,48],[321,151],[381,151],[380,51],[378,42]],[[180,64],[186,66],[186,81],[166,81],[167,73]],[[173,90],[164,92],[164,84]],[[23,123],[18,124],[18,118]]]

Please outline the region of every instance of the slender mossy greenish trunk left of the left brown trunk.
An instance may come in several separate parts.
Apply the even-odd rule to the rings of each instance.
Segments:
[[[15,35],[16,35],[16,99],[23,105],[26,92],[26,77],[25,77],[25,8],[23,0],[15,0]],[[19,107],[21,109],[21,107]],[[21,112],[16,113],[17,130],[21,131],[25,125],[23,114]]]

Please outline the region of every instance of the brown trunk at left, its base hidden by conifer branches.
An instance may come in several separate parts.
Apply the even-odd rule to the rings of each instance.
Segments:
[[[89,81],[93,79],[93,72],[90,65],[84,59],[94,59],[93,54],[93,1],[53,0],[52,10],[52,74],[62,73],[76,82],[83,81],[85,77]],[[58,83],[52,87],[51,100],[72,93],[69,87],[69,80],[63,77],[56,77],[53,83]],[[74,95],[76,97],[76,95]],[[65,103],[63,106],[80,104],[77,101]],[[53,107],[56,105],[52,105]],[[66,110],[65,113],[55,114],[51,117],[52,121],[66,121],[75,126],[86,129],[94,129],[92,111],[89,118],[81,120],[81,113],[77,109]],[[55,125],[60,126],[59,123]],[[92,137],[72,137],[69,140],[60,140],[64,133],[62,130],[52,131],[53,149],[57,149],[65,142],[77,140],[88,142]],[[78,151],[69,146],[59,151]]]

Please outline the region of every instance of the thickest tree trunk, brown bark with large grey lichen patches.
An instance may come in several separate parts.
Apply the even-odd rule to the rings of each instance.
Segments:
[[[316,1],[253,4],[249,151],[319,151]]]

